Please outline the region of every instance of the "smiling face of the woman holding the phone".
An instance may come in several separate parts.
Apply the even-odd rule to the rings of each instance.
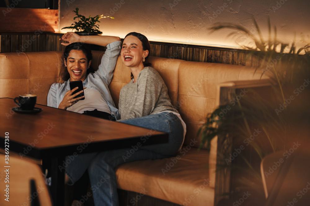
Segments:
[[[86,79],[87,68],[90,64],[91,61],[89,63],[87,62],[87,57],[82,50],[71,50],[67,61],[65,61],[65,66],[67,66],[70,74],[70,81],[84,81]]]

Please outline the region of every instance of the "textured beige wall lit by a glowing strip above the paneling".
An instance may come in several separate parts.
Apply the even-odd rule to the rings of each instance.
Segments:
[[[281,42],[296,37],[298,46],[310,42],[310,1],[308,0],[60,0],[60,28],[73,22],[76,7],[85,16],[112,15],[101,19],[104,35],[124,37],[135,31],[150,40],[178,41],[227,47],[248,43],[240,36],[228,37],[229,30],[210,33],[214,23],[238,23],[255,31],[255,17],[268,39],[268,17],[277,27]],[[60,30],[66,32],[69,30]]]

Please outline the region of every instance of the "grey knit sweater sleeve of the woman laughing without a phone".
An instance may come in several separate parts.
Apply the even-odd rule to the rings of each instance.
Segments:
[[[157,75],[147,69],[140,73],[136,83],[138,88],[126,119],[147,116],[152,113],[161,93],[161,81]]]

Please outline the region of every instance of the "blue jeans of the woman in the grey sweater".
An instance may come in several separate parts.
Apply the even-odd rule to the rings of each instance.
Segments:
[[[115,167],[126,162],[172,157],[183,142],[184,130],[182,123],[175,114],[170,112],[162,112],[122,122],[150,128],[151,133],[153,130],[167,132],[169,133],[169,141],[163,144],[141,146],[135,152],[130,153],[131,155],[127,155],[128,151],[133,149],[131,146],[128,146],[127,149],[104,151],[95,154],[88,166],[88,173],[96,206],[118,205]],[[143,141],[141,144],[143,145]]]

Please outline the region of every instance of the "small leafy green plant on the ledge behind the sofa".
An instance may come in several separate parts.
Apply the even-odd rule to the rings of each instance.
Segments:
[[[101,31],[99,31],[99,25],[97,24],[99,19],[102,18],[111,18],[114,19],[114,17],[111,16],[104,16],[104,15],[97,15],[95,17],[91,17],[91,15],[86,18],[83,15],[80,15],[78,13],[79,8],[75,8],[75,11],[73,12],[76,14],[76,16],[73,18],[73,20],[78,19],[78,21],[71,24],[70,27],[64,27],[62,29],[72,29],[76,30],[75,33],[78,33],[79,35],[99,35],[102,34]]]

